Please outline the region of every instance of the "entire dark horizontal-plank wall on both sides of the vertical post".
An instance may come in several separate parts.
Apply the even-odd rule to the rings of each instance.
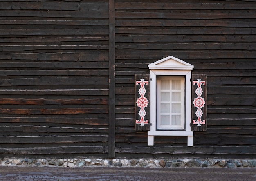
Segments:
[[[255,0],[0,0],[1,156],[253,157],[255,22]],[[170,55],[207,75],[194,147],[134,129],[135,74]]]

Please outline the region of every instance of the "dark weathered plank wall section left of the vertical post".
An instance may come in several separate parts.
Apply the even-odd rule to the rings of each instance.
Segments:
[[[108,1],[0,1],[0,155],[107,157]]]

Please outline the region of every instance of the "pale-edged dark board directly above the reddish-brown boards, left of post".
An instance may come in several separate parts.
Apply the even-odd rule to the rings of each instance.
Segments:
[[[0,89],[0,95],[108,95],[108,89]]]

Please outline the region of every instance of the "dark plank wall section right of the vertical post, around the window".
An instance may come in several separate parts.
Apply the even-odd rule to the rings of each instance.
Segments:
[[[116,155],[253,157],[256,153],[256,1],[116,0]],[[167,56],[207,75],[207,131],[134,131],[134,74]],[[178,147],[177,147],[178,146]]]

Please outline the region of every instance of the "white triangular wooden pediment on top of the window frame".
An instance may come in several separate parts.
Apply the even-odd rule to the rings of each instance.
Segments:
[[[149,69],[162,69],[162,70],[192,70],[193,65],[184,62],[174,56],[168,56],[161,60],[148,65]]]

